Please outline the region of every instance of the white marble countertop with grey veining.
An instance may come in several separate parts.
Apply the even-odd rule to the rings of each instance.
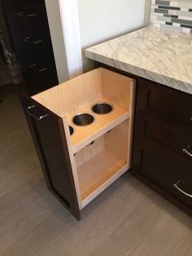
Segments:
[[[192,95],[192,34],[154,27],[85,50],[89,59]]]

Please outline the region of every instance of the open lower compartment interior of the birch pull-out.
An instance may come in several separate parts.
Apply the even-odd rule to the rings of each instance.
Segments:
[[[81,200],[107,183],[128,164],[129,120],[76,152],[76,172]]]

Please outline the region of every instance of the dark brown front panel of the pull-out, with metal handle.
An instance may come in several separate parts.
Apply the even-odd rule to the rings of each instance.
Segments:
[[[25,95],[20,95],[20,101],[33,136],[47,187],[72,215],[80,220],[63,120]]]

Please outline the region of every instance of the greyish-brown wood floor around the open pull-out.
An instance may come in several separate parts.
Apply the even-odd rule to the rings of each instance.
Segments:
[[[19,100],[0,104],[1,256],[192,255],[192,220],[124,174],[77,222],[46,189]]]

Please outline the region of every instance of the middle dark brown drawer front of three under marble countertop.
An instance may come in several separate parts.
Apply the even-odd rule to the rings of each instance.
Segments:
[[[175,153],[192,166],[192,135],[142,113],[137,113],[135,124],[137,138],[156,144],[172,155]]]

